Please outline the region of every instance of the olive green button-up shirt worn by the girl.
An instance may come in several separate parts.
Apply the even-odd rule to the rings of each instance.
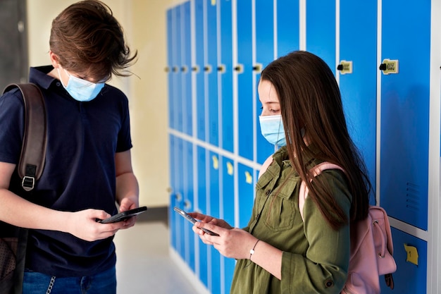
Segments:
[[[310,158],[309,169],[319,162]],[[349,219],[352,195],[344,174],[325,170],[324,177]],[[284,183],[286,180],[286,183]],[[279,185],[282,185],[280,190]],[[300,178],[293,172],[286,147],[273,155],[273,163],[256,185],[256,200],[245,231],[277,247],[282,254],[279,280],[249,259],[235,267],[230,293],[340,293],[349,267],[349,226],[333,230],[316,204],[307,197],[304,221],[299,212]],[[276,192],[277,191],[277,192]]]

